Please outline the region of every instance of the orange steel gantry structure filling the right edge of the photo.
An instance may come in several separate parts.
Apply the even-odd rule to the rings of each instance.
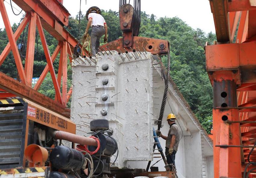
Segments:
[[[256,0],[210,0],[217,42],[206,43],[214,90],[214,178],[256,168]],[[256,169],[255,169],[256,170]],[[255,173],[252,170],[252,173]]]

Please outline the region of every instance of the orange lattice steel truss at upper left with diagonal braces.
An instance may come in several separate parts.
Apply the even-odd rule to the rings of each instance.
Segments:
[[[69,112],[64,110],[67,106],[67,102],[70,99],[72,88],[67,91],[65,86],[67,83],[67,63],[72,62],[72,50],[78,42],[72,37],[63,27],[68,25],[68,11],[63,7],[62,1],[58,0],[13,0],[17,5],[26,11],[26,16],[20,23],[15,33],[13,33],[11,24],[6,12],[4,0],[0,0],[0,12],[4,21],[6,33],[9,39],[9,43],[0,55],[0,66],[4,62],[7,55],[12,51],[14,61],[17,67],[19,78],[21,82],[17,82],[11,77],[0,73],[0,98],[20,96],[30,99],[42,106],[48,107],[55,112],[59,112],[62,115],[66,115]],[[16,45],[16,41],[24,28],[28,26],[28,39],[27,39],[27,51],[25,67],[23,68],[19,51]],[[39,77],[36,85],[32,89],[32,76],[33,76],[33,64],[34,64],[34,52],[35,52],[35,37],[36,28],[38,29],[39,36],[42,41],[43,50],[45,53],[47,65]],[[59,43],[52,55],[49,53],[48,45],[45,40],[45,34],[43,29],[49,32]],[[86,51],[87,52],[87,51]],[[58,77],[56,77],[53,62],[60,53],[60,61],[58,68]],[[69,57],[68,57],[69,56]],[[69,61],[68,61],[69,58]],[[51,101],[50,98],[41,96],[37,90],[41,86],[46,74],[50,72],[53,85],[55,88],[55,101]],[[8,80],[8,82],[6,82]],[[16,86],[13,89],[13,86]],[[27,91],[24,92],[24,91]]]

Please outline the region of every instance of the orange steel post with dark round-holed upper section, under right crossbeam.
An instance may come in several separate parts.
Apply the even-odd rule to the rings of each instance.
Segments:
[[[213,80],[214,109],[214,178],[241,177],[241,148],[216,147],[216,145],[240,145],[240,124],[227,124],[226,120],[239,121],[236,78],[238,71],[208,72]]]

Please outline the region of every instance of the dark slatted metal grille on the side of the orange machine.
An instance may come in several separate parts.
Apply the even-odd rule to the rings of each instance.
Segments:
[[[0,113],[0,168],[22,166],[25,121],[23,110]]]

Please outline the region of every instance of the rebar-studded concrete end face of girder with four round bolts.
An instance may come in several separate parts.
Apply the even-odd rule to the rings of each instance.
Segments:
[[[107,119],[119,148],[114,166],[152,160],[151,54],[135,58],[129,53],[129,58],[124,53],[122,59],[117,51],[103,53],[96,64],[83,58],[72,62],[71,119],[77,124],[77,134],[89,136],[90,121]]]

